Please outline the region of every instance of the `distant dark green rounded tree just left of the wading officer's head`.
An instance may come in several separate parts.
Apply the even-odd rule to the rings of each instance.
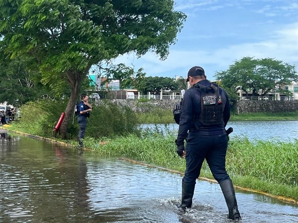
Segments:
[[[179,84],[173,78],[146,77],[135,88],[142,94],[150,92],[153,95],[160,94],[161,90],[178,90]]]

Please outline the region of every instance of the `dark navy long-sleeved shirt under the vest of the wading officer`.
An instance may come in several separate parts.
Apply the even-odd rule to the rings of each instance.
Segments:
[[[201,80],[199,81],[199,84],[203,86],[211,86],[209,80]],[[222,96],[222,101],[224,103],[223,123],[220,125],[204,127],[199,123],[201,93],[195,86],[196,84],[189,88],[183,96],[179,131],[176,142],[177,145],[184,144],[184,139],[187,137],[188,131],[196,131],[200,136],[226,134],[225,127],[230,119],[230,104],[227,93],[222,88],[219,88],[219,94]]]

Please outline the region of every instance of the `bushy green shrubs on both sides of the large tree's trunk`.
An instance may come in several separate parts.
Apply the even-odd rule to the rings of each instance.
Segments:
[[[53,133],[53,129],[65,108],[66,100],[39,100],[28,102],[20,107],[21,118],[12,123],[13,128],[23,132],[43,137],[61,137]],[[118,107],[113,103],[106,102],[92,109],[86,127],[86,136],[95,139],[101,137],[114,137],[115,135],[126,135],[137,131],[137,120],[134,113],[128,107]],[[77,116],[74,124],[67,127],[67,138],[76,140],[79,126]]]

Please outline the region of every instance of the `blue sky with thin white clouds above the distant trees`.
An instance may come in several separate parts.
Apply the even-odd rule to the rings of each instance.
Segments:
[[[152,52],[116,63],[143,67],[146,77],[182,76],[201,66],[209,80],[243,57],[272,58],[298,68],[298,0],[175,0],[187,18],[164,61]]]

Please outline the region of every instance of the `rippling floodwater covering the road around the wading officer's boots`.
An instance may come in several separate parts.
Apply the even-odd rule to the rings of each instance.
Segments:
[[[178,158],[177,158],[178,159]],[[2,223],[228,223],[218,184],[198,180],[182,214],[182,175],[1,134]],[[243,223],[297,223],[298,205],[236,190]]]

